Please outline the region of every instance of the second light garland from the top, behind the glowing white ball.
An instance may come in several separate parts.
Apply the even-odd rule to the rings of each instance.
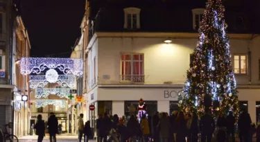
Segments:
[[[53,80],[51,80],[53,81]],[[45,85],[49,83],[46,80],[46,76],[30,76],[30,88],[35,89],[37,87],[43,88]],[[58,76],[58,80],[55,83],[58,83],[61,87],[76,87],[76,76],[73,75],[60,75]]]

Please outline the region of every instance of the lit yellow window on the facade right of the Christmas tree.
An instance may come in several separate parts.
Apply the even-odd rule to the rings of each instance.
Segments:
[[[246,74],[246,55],[234,55],[234,73]]]

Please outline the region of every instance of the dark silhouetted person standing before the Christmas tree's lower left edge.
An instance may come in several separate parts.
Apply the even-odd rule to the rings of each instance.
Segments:
[[[175,127],[177,127],[177,134],[176,134],[177,139],[176,139],[176,141],[177,142],[184,142],[187,127],[186,127],[186,120],[184,118],[183,112],[178,113],[177,118],[175,119]]]

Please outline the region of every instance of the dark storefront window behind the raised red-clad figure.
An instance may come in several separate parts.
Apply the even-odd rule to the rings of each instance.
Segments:
[[[153,116],[157,112],[157,101],[145,101],[146,112],[149,116]],[[139,101],[125,101],[125,116],[137,115]]]

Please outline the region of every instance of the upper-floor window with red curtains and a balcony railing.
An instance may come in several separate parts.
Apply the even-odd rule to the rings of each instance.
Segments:
[[[121,80],[144,82],[144,54],[121,55]]]

